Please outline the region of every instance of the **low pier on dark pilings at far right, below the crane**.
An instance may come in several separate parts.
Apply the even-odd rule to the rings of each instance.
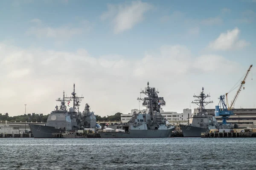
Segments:
[[[255,132],[214,132],[201,133],[201,138],[255,138]]]

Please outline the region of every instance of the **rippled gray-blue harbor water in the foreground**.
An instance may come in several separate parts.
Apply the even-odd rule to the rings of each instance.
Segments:
[[[256,138],[8,138],[0,169],[254,170]]]

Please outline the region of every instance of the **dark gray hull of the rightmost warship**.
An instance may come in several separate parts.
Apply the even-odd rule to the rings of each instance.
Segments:
[[[184,137],[201,137],[201,133],[207,132],[206,128],[190,125],[180,125]]]

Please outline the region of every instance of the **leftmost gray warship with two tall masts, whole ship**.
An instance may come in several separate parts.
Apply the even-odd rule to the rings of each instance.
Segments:
[[[78,97],[75,92],[75,84],[73,87],[71,97],[65,97],[65,92],[63,92],[63,99],[56,100],[61,102],[60,108],[56,106],[55,110],[49,114],[46,125],[29,124],[34,138],[51,138],[52,133],[96,128],[96,117],[93,112],[90,112],[90,106],[86,104],[83,113],[79,111],[80,102],[84,97]],[[66,102],[69,106],[70,101],[73,101],[73,107],[67,111]]]

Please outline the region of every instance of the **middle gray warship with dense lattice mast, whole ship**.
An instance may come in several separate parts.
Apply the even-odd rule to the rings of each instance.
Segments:
[[[149,85],[149,83],[148,83]],[[106,128],[99,131],[102,138],[166,138],[170,137],[174,126],[167,126],[166,119],[160,114],[161,105],[165,105],[163,97],[158,97],[159,92],[155,88],[146,87],[143,106],[146,110],[143,113],[134,113],[128,123],[116,125],[115,129]]]

